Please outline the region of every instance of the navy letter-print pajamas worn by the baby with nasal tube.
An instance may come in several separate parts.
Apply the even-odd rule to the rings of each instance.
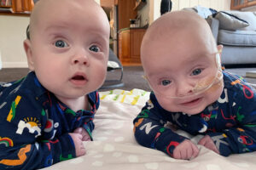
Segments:
[[[134,120],[135,138],[145,147],[172,156],[185,137],[165,127],[171,122],[190,134],[209,135],[220,155],[256,150],[256,93],[241,77],[223,71],[224,91],[220,98],[197,115],[164,110],[154,93]]]

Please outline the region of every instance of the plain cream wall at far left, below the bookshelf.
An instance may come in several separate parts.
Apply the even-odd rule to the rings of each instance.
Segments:
[[[0,56],[3,68],[27,67],[23,41],[26,39],[26,26],[29,17],[0,15]]]

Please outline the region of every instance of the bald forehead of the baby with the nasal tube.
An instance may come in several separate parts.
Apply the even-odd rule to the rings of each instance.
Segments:
[[[180,12],[177,14],[180,14]],[[185,14],[188,15],[188,13]],[[192,17],[187,16],[187,18],[172,17],[172,14],[170,14],[170,16],[166,15],[160,20],[156,20],[143,37],[143,46],[150,46],[149,50],[155,49],[153,47],[168,48],[171,52],[174,50],[183,51],[188,46],[193,48],[193,51],[198,50],[199,53],[204,48],[208,53],[216,51],[216,42],[212,37],[210,27],[197,14],[194,16],[192,14]],[[144,47],[143,49],[148,50]],[[142,50],[142,52],[144,51]]]

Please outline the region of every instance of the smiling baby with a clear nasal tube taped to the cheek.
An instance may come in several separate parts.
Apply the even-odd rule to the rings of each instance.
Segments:
[[[198,14],[164,14],[143,37],[141,59],[153,92],[134,120],[139,144],[177,159],[198,156],[196,144],[166,126],[172,123],[222,156],[256,150],[256,94],[221,70],[222,46]]]

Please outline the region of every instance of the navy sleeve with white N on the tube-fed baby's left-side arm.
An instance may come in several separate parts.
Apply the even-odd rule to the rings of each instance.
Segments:
[[[133,121],[137,142],[145,147],[161,150],[172,156],[173,150],[186,139],[166,128],[166,118],[158,107],[154,94]]]

